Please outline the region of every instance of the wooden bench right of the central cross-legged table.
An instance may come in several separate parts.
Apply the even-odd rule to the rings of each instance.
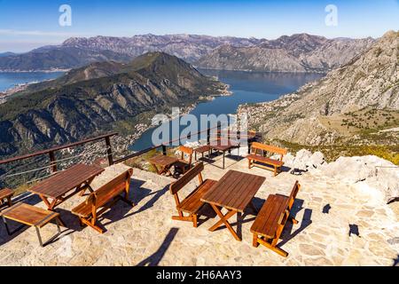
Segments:
[[[277,252],[280,256],[288,256],[286,251],[277,247],[277,243],[281,233],[283,233],[287,220],[292,221],[293,224],[298,223],[298,221],[290,216],[290,212],[293,208],[293,201],[300,188],[301,185],[296,181],[290,196],[287,197],[280,194],[269,195],[254,220],[254,224],[251,226],[251,233],[254,234],[253,246],[255,248],[259,244],[262,244],[266,248]]]

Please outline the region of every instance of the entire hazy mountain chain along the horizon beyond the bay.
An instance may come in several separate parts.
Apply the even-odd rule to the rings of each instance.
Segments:
[[[95,61],[129,62],[147,51],[163,51],[205,68],[326,72],[347,63],[373,42],[372,38],[327,39],[307,34],[277,40],[196,35],[73,37],[60,45],[0,57],[0,70],[69,69]]]

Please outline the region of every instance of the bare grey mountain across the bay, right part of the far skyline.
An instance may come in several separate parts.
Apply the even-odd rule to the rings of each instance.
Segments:
[[[307,34],[281,36],[250,47],[223,45],[195,64],[229,70],[326,72],[348,63],[373,42],[372,38],[327,39]]]

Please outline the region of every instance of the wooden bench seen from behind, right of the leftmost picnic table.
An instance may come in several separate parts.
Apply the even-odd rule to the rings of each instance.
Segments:
[[[106,185],[102,185],[95,192],[90,193],[86,201],[72,209],[72,213],[79,217],[81,225],[89,225],[98,233],[104,233],[105,230],[96,225],[99,216],[119,200],[134,206],[133,202],[128,199],[132,174],[132,169],[126,170]],[[122,193],[123,196],[121,196]]]

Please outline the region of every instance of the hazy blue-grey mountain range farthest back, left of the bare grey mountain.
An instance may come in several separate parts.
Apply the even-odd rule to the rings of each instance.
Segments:
[[[0,57],[0,70],[69,69],[108,60],[129,62],[148,51],[164,51],[192,62],[223,43],[250,46],[259,42],[257,39],[230,36],[195,35],[71,37],[60,45],[45,46],[23,54]]]

